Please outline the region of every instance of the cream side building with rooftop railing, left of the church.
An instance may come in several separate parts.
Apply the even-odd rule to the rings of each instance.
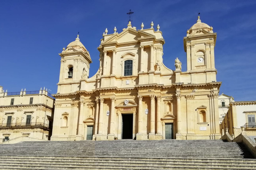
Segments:
[[[50,140],[54,98],[47,89],[4,92],[0,86],[0,142]],[[10,141],[9,141],[10,140]]]

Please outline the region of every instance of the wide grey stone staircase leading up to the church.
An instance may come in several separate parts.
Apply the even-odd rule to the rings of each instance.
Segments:
[[[20,142],[0,153],[0,169],[256,169],[242,143],[222,140]]]

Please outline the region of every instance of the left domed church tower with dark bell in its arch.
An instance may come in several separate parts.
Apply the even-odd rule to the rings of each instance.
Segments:
[[[89,68],[92,63],[90,54],[77,35],[76,40],[69,43],[67,48],[63,48],[59,55],[61,64],[58,94],[75,92],[79,90],[79,81],[87,79],[89,76]]]

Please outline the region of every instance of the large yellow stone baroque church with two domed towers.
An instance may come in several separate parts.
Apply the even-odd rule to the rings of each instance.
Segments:
[[[98,72],[77,37],[61,56],[51,140],[220,139],[213,28],[197,22],[183,38],[187,71],[163,64],[162,32],[131,22],[103,33]],[[183,68],[183,70],[185,70]]]

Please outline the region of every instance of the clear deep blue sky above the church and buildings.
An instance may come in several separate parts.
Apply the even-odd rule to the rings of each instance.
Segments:
[[[57,92],[62,48],[79,38],[91,55],[90,77],[99,68],[102,33],[122,32],[131,9],[132,26],[154,22],[163,32],[164,64],[179,57],[186,71],[183,37],[197,20],[217,32],[215,67],[220,93],[236,101],[256,100],[256,1],[3,1],[0,0],[0,86],[9,92]]]

